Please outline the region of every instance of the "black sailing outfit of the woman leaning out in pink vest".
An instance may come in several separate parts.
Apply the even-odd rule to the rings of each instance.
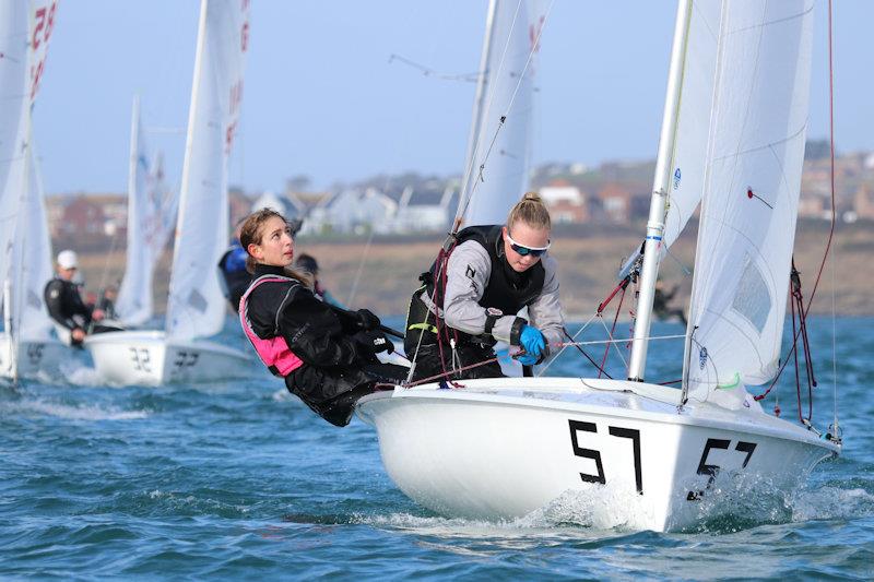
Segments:
[[[362,330],[354,314],[338,313],[282,268],[257,265],[251,287],[240,301],[244,331],[285,340],[295,360],[281,375],[286,388],[332,425],[347,425],[355,402],[375,383],[406,378],[406,368],[377,359],[375,344],[388,342],[385,336]]]

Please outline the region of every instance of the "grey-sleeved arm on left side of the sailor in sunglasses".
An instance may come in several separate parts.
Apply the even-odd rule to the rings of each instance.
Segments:
[[[447,325],[472,335],[485,333],[489,316],[479,301],[491,274],[492,261],[482,245],[468,241],[456,247],[447,265],[444,297],[444,320]],[[519,345],[519,333],[524,322],[516,313],[494,318],[491,335],[495,340]]]

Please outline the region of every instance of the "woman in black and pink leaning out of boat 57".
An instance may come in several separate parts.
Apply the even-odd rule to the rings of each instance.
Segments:
[[[366,309],[331,308],[316,297],[309,275],[291,268],[294,238],[282,214],[263,209],[250,215],[240,244],[255,277],[239,302],[243,331],[292,394],[332,425],[345,426],[355,402],[377,382],[403,381],[406,368],[376,356],[393,351],[378,331],[379,318]]]

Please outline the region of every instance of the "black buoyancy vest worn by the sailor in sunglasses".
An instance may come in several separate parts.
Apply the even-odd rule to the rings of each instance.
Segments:
[[[481,307],[496,308],[505,316],[512,316],[540,297],[543,290],[543,283],[546,278],[546,271],[543,268],[543,261],[539,261],[524,273],[517,273],[513,271],[504,253],[504,236],[501,229],[501,225],[469,226],[456,235],[456,244],[452,250],[462,242],[473,240],[488,252],[492,273],[488,276],[488,283],[483,292],[483,296],[477,302]],[[420,277],[425,284],[424,293],[427,293],[428,297],[435,297],[435,285],[441,284],[441,282],[438,281],[438,278],[440,278],[439,273],[437,273],[438,266],[438,262],[435,261],[430,270],[423,273]],[[435,298],[437,299],[437,307],[442,309],[444,289],[440,288],[439,292],[440,293],[437,293]],[[416,302],[421,293],[421,290],[417,290],[414,294],[414,302]],[[422,308],[424,308],[424,304],[418,309],[414,309],[414,306],[411,305],[411,312],[408,316],[409,323],[413,324],[416,329],[424,329],[427,333],[433,330],[432,325],[416,325],[416,323],[422,323],[424,319],[422,317],[424,314]],[[462,337],[470,338],[468,334],[462,332],[458,333]],[[484,340],[487,340],[488,343],[494,342],[493,338]]]

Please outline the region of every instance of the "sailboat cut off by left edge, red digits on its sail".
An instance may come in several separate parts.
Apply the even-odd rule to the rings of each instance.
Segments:
[[[0,5],[0,377],[16,381],[57,366],[67,347],[52,335],[43,300],[51,242],[33,153],[31,116],[54,32],[56,1]],[[26,256],[25,256],[26,248]]]

